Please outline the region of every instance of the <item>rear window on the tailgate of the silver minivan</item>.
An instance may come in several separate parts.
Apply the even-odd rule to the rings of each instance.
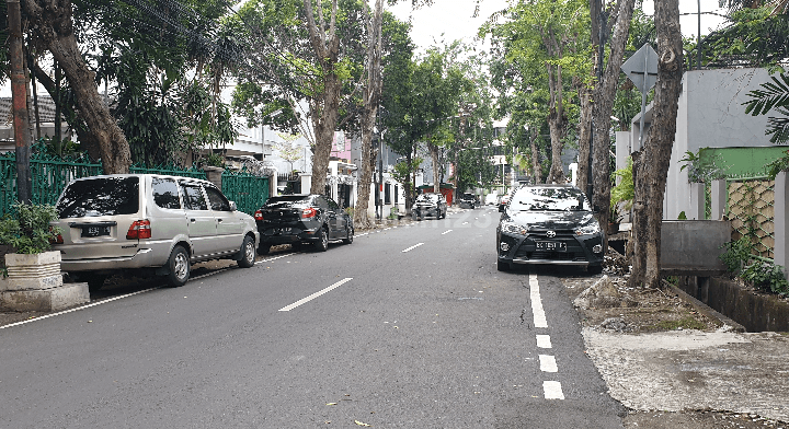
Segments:
[[[98,177],[72,182],[57,204],[58,217],[133,215],[139,211],[139,177]]]

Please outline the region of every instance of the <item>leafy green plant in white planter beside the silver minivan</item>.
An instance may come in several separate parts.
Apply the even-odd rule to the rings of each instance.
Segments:
[[[14,253],[5,254],[5,289],[48,289],[62,285],[60,252],[52,243],[60,230],[49,225],[57,219],[55,207],[16,202],[0,220],[0,244]]]

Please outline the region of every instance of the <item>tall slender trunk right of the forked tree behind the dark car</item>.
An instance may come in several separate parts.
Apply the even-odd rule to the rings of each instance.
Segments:
[[[369,206],[370,184],[373,183],[373,166],[375,164],[376,149],[373,148],[373,128],[378,115],[378,104],[381,93],[381,44],[384,23],[384,0],[376,0],[373,16],[367,20],[367,88],[364,92],[364,109],[362,116],[362,171],[356,187],[357,198],[354,208],[354,224],[356,228],[369,228],[371,222],[367,217]],[[364,9],[367,11],[366,7]],[[382,138],[382,136],[381,136]]]

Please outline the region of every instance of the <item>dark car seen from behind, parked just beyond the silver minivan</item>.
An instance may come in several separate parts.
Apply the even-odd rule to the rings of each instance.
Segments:
[[[353,243],[353,218],[324,195],[282,195],[255,212],[261,240],[258,254],[265,255],[274,244],[310,243],[325,252],[329,241]]]

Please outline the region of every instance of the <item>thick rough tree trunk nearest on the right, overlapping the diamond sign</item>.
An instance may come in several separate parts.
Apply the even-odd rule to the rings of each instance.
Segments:
[[[633,271],[630,286],[660,287],[660,247],[668,163],[676,135],[682,92],[683,43],[678,0],[655,2],[658,31],[658,83],[652,126],[647,134],[636,174],[633,205]]]

